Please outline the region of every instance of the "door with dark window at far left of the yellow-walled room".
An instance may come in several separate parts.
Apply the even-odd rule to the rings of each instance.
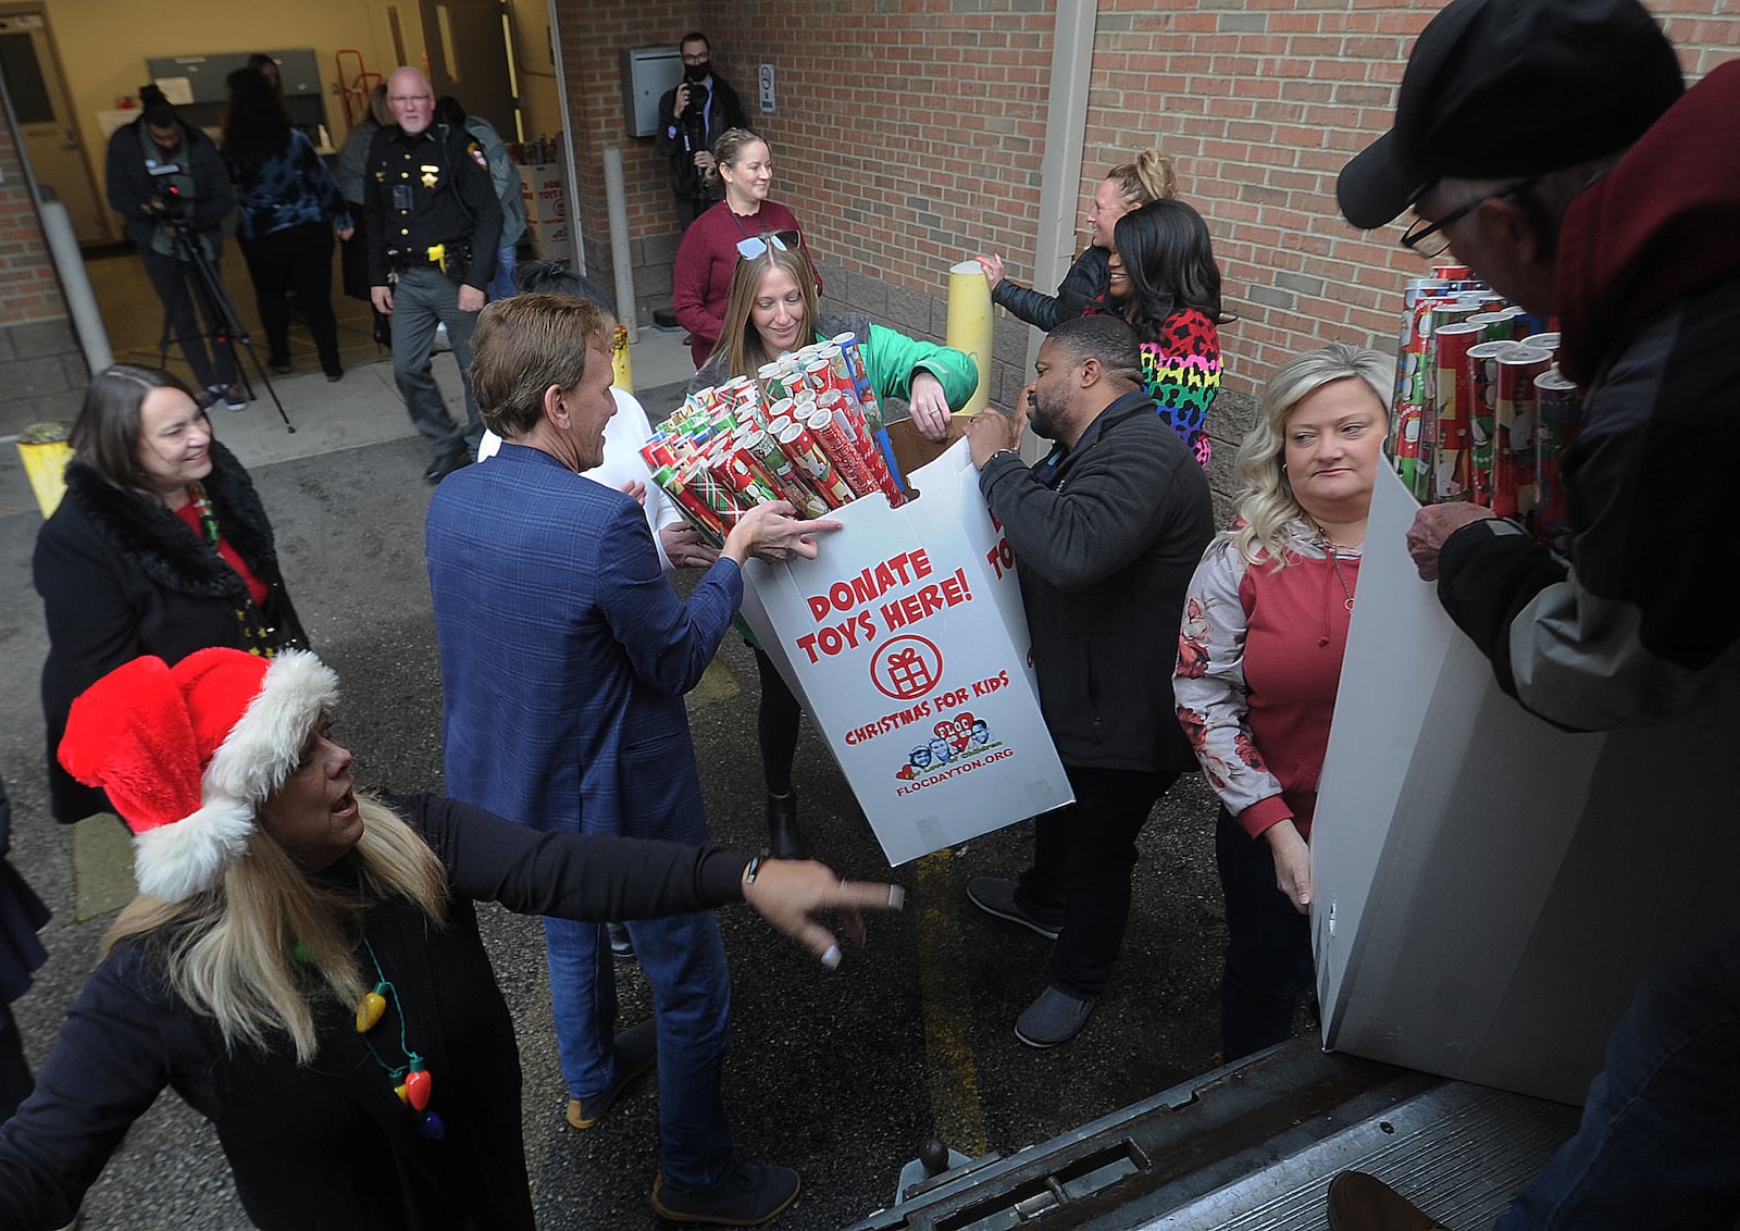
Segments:
[[[90,162],[78,141],[71,97],[61,78],[44,9],[0,10],[0,75],[12,99],[12,120],[24,137],[37,184],[66,202],[80,243],[113,236]]]

